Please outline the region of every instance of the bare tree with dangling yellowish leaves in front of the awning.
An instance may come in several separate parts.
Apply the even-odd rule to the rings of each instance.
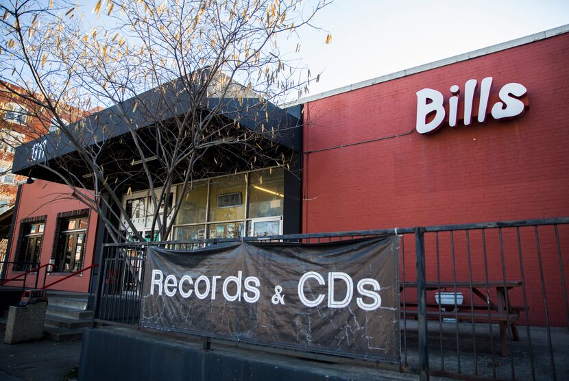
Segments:
[[[154,238],[167,237],[180,210],[169,200],[174,184],[183,197],[202,178],[291,164],[275,140],[295,126],[282,128],[289,115],[274,104],[306,93],[318,76],[278,42],[313,27],[325,5],[99,0],[99,26],[86,29],[73,3],[10,0],[0,4],[0,90],[40,121],[26,132],[36,138],[24,147],[29,160],[73,187],[115,241],[126,230],[143,240],[121,203],[135,188],[149,189]],[[106,108],[78,112],[94,106]]]

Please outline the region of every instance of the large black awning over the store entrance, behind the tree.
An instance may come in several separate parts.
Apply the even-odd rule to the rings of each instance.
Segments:
[[[107,145],[116,155],[125,151],[121,145],[128,144],[130,127],[136,130],[152,129],[157,123],[168,123],[169,120],[182,116],[191,110],[191,99],[177,81],[148,90],[147,92],[118,103],[96,114],[69,125],[75,139],[83,147]],[[282,156],[284,152],[302,151],[302,121],[300,106],[296,109],[283,110],[272,103],[258,98],[205,98],[199,103],[199,110],[211,112],[216,110],[219,120],[224,124],[233,121],[239,128],[261,133],[263,140],[270,145],[263,145],[264,153]],[[295,115],[293,115],[293,113]],[[148,117],[152,115],[152,117]],[[138,132],[138,131],[137,131]],[[278,149],[273,149],[274,145]],[[268,149],[269,147],[271,149]],[[128,150],[126,150],[128,151]],[[123,152],[125,163],[137,160],[132,154]],[[104,150],[101,150],[104,153]],[[273,153],[270,153],[273,152]],[[278,156],[277,156],[278,155]],[[77,176],[88,174],[88,167],[77,165],[62,168],[62,162],[77,161],[79,153],[67,136],[52,132],[25,145],[16,148],[12,173],[60,182],[56,171],[70,171]],[[215,158],[213,158],[215,160]],[[51,172],[49,169],[55,171]],[[232,169],[233,170],[233,169]],[[83,172],[83,173],[82,173]]]

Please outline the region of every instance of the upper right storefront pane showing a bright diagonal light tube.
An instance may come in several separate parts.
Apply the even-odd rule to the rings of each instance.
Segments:
[[[282,216],[284,204],[284,170],[266,169],[251,173],[249,218]]]

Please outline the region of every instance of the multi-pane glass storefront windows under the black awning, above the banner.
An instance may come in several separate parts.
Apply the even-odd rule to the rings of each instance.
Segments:
[[[152,208],[147,206],[147,196],[137,196],[131,195],[130,199],[126,199],[125,207],[135,225],[141,225],[140,228],[137,225],[138,231],[145,232],[149,227],[149,219],[140,217],[144,217]],[[180,209],[173,234],[167,240],[193,241],[282,234],[282,168],[200,180],[193,184],[191,190],[186,190],[185,195],[182,195],[182,186],[178,185],[175,196],[181,198]],[[144,222],[146,225],[143,225]]]

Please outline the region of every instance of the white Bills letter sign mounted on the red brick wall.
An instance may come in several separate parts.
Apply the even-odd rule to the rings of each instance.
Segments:
[[[492,77],[485,77],[480,84],[479,98],[474,98],[477,87],[476,79],[466,81],[461,102],[458,85],[450,86],[451,96],[446,103],[443,94],[437,90],[424,88],[417,91],[417,132],[430,134],[445,123],[456,127],[458,121],[470,125],[475,117],[479,123],[484,123],[488,114],[496,120],[511,119],[522,115],[529,106],[527,89],[521,84],[505,84],[497,95],[490,95]]]

